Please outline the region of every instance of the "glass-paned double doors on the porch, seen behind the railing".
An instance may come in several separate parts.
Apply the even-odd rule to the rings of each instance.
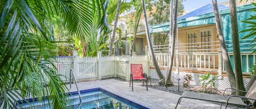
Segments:
[[[199,63],[212,63],[212,57],[203,54],[213,52],[213,29],[191,30],[187,31],[186,35],[187,52],[189,53],[189,55],[186,56],[186,59],[184,59],[187,60],[186,66],[189,68],[198,66]]]

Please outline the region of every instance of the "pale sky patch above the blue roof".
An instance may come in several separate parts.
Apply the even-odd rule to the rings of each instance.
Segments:
[[[226,2],[228,0],[217,0],[218,3]],[[183,1],[184,10],[191,12],[195,9],[201,8],[204,5],[212,4],[212,0],[185,0]]]

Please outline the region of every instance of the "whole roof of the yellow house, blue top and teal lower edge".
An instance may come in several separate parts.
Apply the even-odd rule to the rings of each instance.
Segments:
[[[204,7],[201,7],[197,10],[194,10],[192,12],[189,12],[186,15],[183,15],[178,18],[178,27],[189,27],[189,26],[195,26],[195,25],[204,25],[204,24],[214,24],[215,19],[214,19],[214,14],[213,14],[213,9],[211,4],[207,4]],[[219,14],[223,17],[225,15],[229,15],[229,7],[224,8],[225,5],[219,4],[220,7],[222,7],[222,10],[219,9]],[[252,4],[247,4],[247,5],[242,5],[240,7],[236,8],[237,12],[242,12],[242,11],[249,11],[250,9],[255,9],[254,5]],[[197,11],[202,11],[197,13]],[[207,11],[203,11],[207,10]],[[211,11],[212,10],[212,11]],[[192,13],[192,14],[190,14]],[[197,13],[194,14],[193,13]],[[249,17],[250,15],[240,15],[238,14],[237,16],[240,17]],[[157,25],[151,25],[150,26],[150,33],[158,33],[158,32],[163,32],[163,31],[169,31],[169,22],[157,24]]]

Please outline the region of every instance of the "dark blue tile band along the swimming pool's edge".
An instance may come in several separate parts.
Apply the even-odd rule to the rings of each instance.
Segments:
[[[105,89],[103,88],[100,88],[100,87],[97,87],[97,88],[91,88],[91,89],[84,89],[84,90],[81,90],[80,93],[86,93],[86,92],[92,92],[92,91],[102,91],[104,94],[106,95],[109,95],[110,97],[114,98],[114,99],[117,99],[117,100],[120,100],[121,102],[123,102],[124,104],[129,104],[129,105],[132,105],[133,107],[136,107],[136,108],[141,108],[141,109],[149,109],[148,107],[145,107],[145,106],[142,106],[136,102],[133,102],[131,100],[128,100],[126,98],[123,98],[123,97],[120,97],[119,95],[116,95],[114,93],[111,93],[109,91],[106,91]],[[78,94],[78,91],[74,91],[74,92],[68,92],[67,93],[68,95],[73,95],[73,94]],[[45,97],[47,99],[47,96]],[[38,101],[38,97],[35,98],[34,100],[32,98],[29,98],[29,99],[25,99],[25,100],[18,100],[18,104],[22,104],[22,102],[33,102],[33,101]],[[15,102],[15,105],[17,106],[18,105],[16,102]]]

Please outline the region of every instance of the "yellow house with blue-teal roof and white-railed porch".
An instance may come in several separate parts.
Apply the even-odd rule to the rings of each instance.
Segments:
[[[223,35],[227,44],[227,49],[230,54],[231,64],[233,63],[233,45],[231,43],[231,28],[230,28],[230,15],[229,7],[227,5],[218,5],[220,16],[223,25]],[[255,12],[250,11],[255,9],[251,4],[242,5],[237,7],[237,21],[239,31],[245,29],[248,26],[247,23],[241,21],[246,20],[250,15],[256,15]],[[168,32],[169,22],[153,25],[150,27],[151,33]],[[239,33],[240,39],[248,33]],[[178,18],[178,30],[177,30],[177,42],[176,42],[176,60],[174,62],[179,69],[195,69],[204,70],[210,72],[218,72],[221,68],[225,70],[221,58],[219,58],[219,41],[216,31],[215,18],[213,15],[212,4],[205,5],[197,10],[189,12]],[[256,43],[251,43],[252,39],[240,40],[241,48],[241,61],[243,72],[251,72],[253,63],[255,63],[255,54],[251,54],[255,50]],[[167,46],[157,47],[155,49],[163,49]],[[166,49],[167,50],[167,49]],[[159,53],[159,63],[163,60],[164,54],[161,50],[157,50]],[[166,66],[166,65],[162,65]],[[221,72],[219,72],[221,73]]]

